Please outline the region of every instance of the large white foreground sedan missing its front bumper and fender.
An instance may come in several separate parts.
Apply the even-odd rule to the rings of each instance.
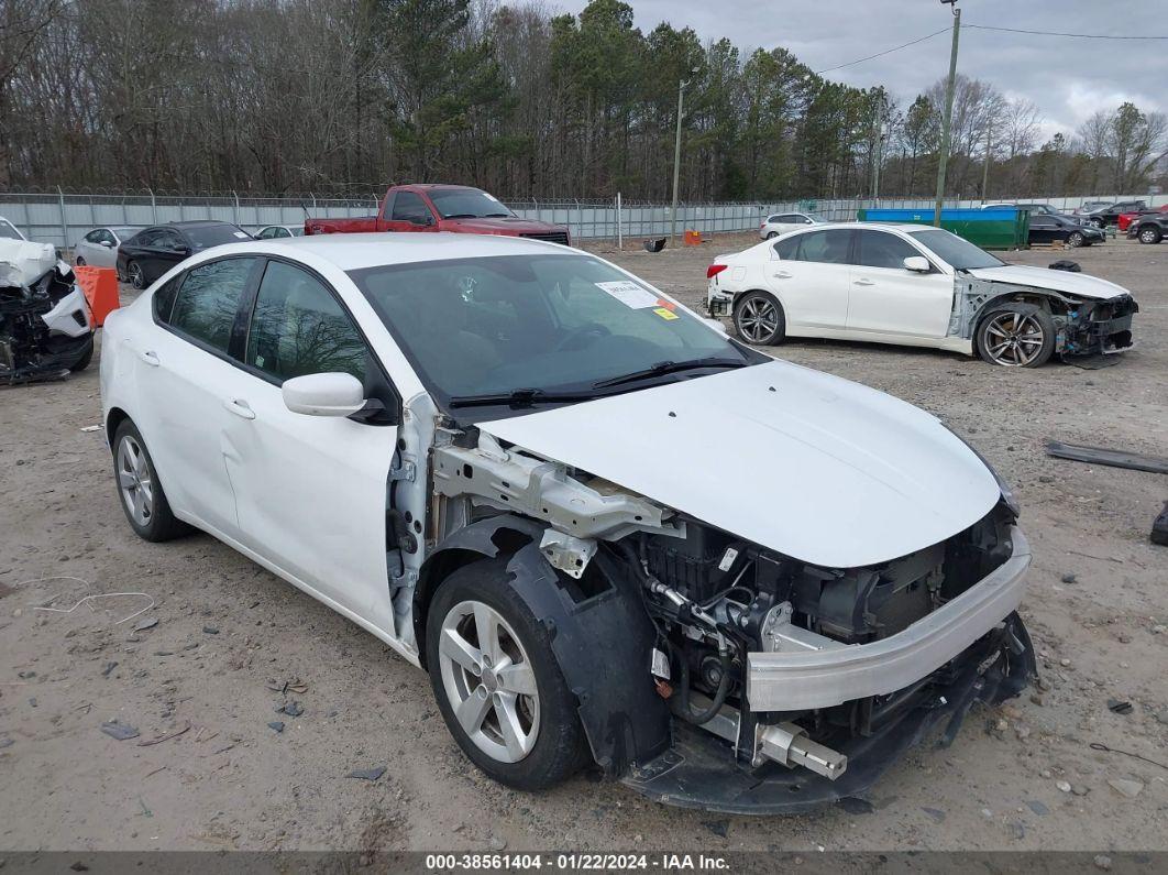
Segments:
[[[974,450],[600,258],[241,243],[105,331],[134,530],[208,532],[369,630],[510,786],[811,808],[1034,674],[1030,550]]]

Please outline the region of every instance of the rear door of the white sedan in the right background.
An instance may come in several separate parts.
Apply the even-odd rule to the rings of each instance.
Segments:
[[[846,328],[851,234],[847,228],[808,231],[772,246],[766,280],[783,304],[788,332]]]

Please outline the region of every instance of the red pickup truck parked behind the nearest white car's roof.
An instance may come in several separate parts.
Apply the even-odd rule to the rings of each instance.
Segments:
[[[470,186],[394,186],[385,192],[381,211],[361,218],[308,218],[305,234],[363,234],[367,231],[454,231],[501,234],[569,245],[561,224],[520,218],[496,197]]]

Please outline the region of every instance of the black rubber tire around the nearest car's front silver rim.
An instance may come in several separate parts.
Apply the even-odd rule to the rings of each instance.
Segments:
[[[503,762],[482,750],[459,723],[446,692],[444,658],[439,652],[443,623],[458,605],[471,600],[487,605],[502,617],[514,631],[535,675],[538,728],[534,746],[517,762]],[[586,763],[589,754],[584,729],[577,716],[578,702],[559,671],[551,650],[551,636],[512,588],[506,561],[473,562],[443,582],[426,617],[426,666],[434,700],[450,734],[487,777],[516,790],[544,790],[579,771]],[[482,672],[481,675],[484,688],[486,674]],[[493,706],[491,714],[498,720]],[[482,724],[486,725],[485,722]]]

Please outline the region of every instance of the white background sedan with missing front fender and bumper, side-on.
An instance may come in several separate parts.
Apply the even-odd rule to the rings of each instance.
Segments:
[[[807,228],[715,258],[710,315],[757,345],[788,336],[867,340],[1037,367],[1051,355],[1132,346],[1131,292],[1105,279],[1010,265],[919,224]]]

